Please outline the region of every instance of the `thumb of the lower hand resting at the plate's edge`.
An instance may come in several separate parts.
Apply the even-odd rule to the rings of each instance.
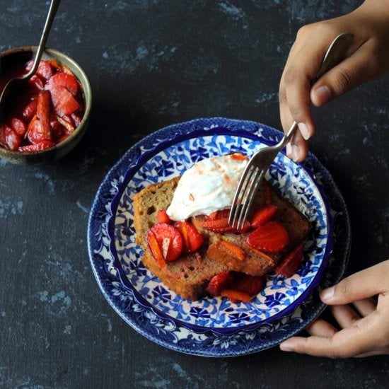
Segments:
[[[341,305],[389,291],[389,260],[352,274],[320,293],[323,303]]]

